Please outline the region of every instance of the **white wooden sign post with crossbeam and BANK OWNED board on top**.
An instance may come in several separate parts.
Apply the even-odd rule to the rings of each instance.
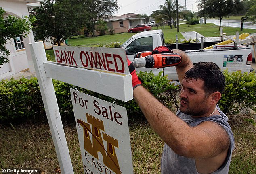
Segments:
[[[125,52],[96,47],[56,47],[57,62],[49,62],[42,42],[29,46],[61,172],[73,174],[52,78],[127,102],[133,93]]]

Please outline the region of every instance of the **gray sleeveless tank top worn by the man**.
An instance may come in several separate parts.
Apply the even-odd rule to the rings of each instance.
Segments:
[[[186,115],[180,111],[176,113],[176,115],[185,121],[190,127],[194,127],[199,125],[203,121],[214,121],[222,126],[227,133],[229,134],[230,146],[227,158],[224,164],[215,172],[211,174],[228,174],[229,173],[229,165],[231,161],[231,154],[235,147],[234,136],[229,126],[227,116],[220,111],[219,106],[216,106],[220,115],[212,115],[210,117],[202,117],[202,118],[193,118],[190,115]],[[180,156],[174,153],[172,149],[165,144],[162,159],[161,159],[161,174],[199,174],[197,172],[197,168],[195,165],[194,158],[186,158],[184,156]]]

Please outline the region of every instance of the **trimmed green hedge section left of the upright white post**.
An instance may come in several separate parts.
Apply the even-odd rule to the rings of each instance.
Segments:
[[[1,80],[0,121],[40,117],[43,111],[37,78]]]

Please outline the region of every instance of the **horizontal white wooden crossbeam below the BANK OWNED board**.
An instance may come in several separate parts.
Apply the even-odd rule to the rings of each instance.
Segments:
[[[133,98],[132,76],[82,67],[44,62],[46,76],[122,101]]]

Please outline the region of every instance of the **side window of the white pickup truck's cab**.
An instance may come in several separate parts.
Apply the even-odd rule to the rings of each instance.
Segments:
[[[142,37],[132,41],[126,48],[128,55],[153,50],[153,37]]]

